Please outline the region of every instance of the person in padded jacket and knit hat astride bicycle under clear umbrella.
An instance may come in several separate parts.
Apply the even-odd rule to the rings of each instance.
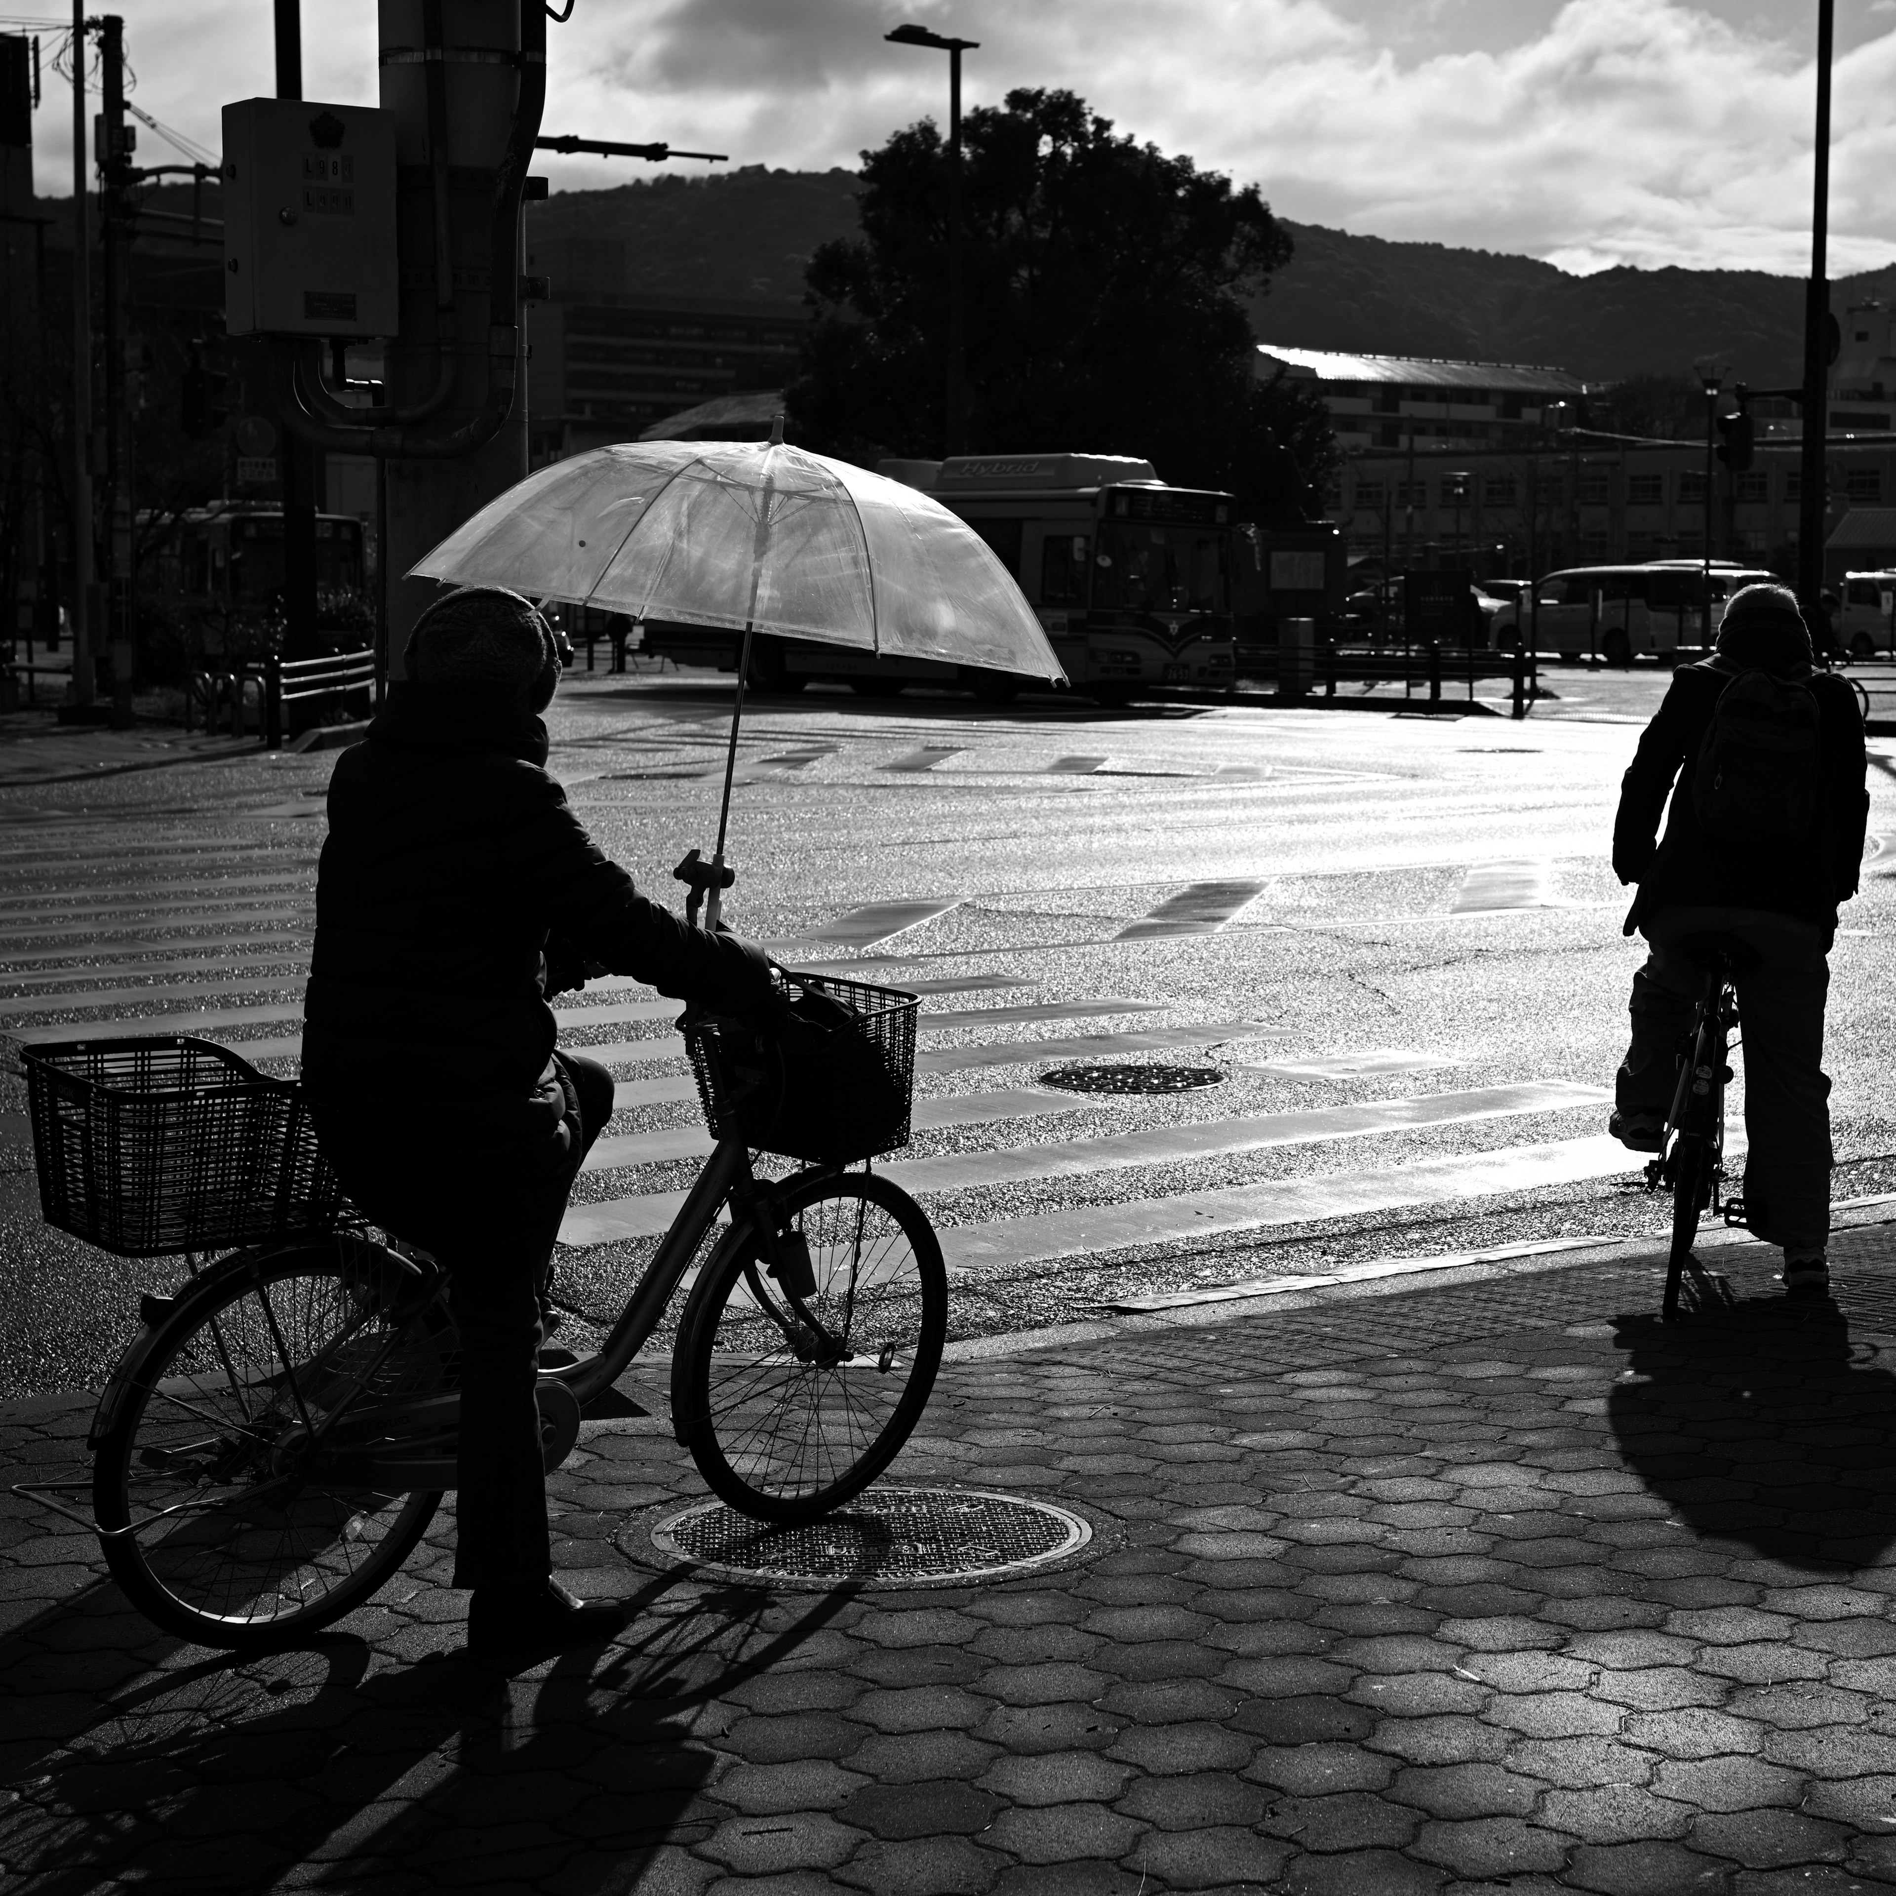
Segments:
[[[637,895],[546,774],[561,654],[499,588],[423,612],[408,681],[337,758],[317,870],[303,1086],[343,1189],[449,1270],[461,1340],[457,1587],[472,1646],[601,1638],[552,1579],[535,1378],[540,1291],[612,1077],[554,1050],[584,963],[747,1012],[766,956]]]

